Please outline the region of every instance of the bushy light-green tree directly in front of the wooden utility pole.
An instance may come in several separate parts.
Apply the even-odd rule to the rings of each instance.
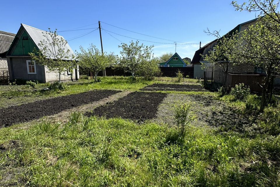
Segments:
[[[110,59],[113,58],[113,55],[102,53],[93,44],[90,45],[88,50],[85,50],[80,46],[80,50],[81,52],[78,53],[80,65],[84,69],[94,72],[95,81],[97,81],[97,73],[110,65]]]

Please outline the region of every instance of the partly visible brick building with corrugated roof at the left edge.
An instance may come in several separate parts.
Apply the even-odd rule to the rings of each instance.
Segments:
[[[8,62],[6,53],[15,38],[14,33],[0,31],[0,79],[8,79]]]

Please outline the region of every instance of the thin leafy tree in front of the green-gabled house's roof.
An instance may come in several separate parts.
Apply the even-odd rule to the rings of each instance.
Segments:
[[[69,49],[65,50],[67,41],[57,35],[57,29],[49,32],[42,32],[44,39],[38,44],[39,49],[34,48],[32,53],[29,53],[32,60],[36,64],[46,66],[50,71],[59,73],[60,77],[64,72],[69,70],[73,73],[73,67],[77,65],[74,54],[71,54]]]

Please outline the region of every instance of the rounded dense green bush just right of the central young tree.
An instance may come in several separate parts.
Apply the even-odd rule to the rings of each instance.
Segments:
[[[160,68],[157,65],[158,63],[158,58],[152,58],[151,60],[142,61],[136,74],[143,76],[144,79],[152,80],[161,72]]]

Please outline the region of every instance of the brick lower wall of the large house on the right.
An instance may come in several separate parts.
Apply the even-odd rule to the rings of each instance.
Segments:
[[[250,65],[229,65],[228,72],[233,73],[249,73],[252,74],[255,71],[255,66]],[[218,84],[224,84],[225,83],[225,73],[223,72],[223,69],[219,66],[214,67],[214,77],[213,81]]]

